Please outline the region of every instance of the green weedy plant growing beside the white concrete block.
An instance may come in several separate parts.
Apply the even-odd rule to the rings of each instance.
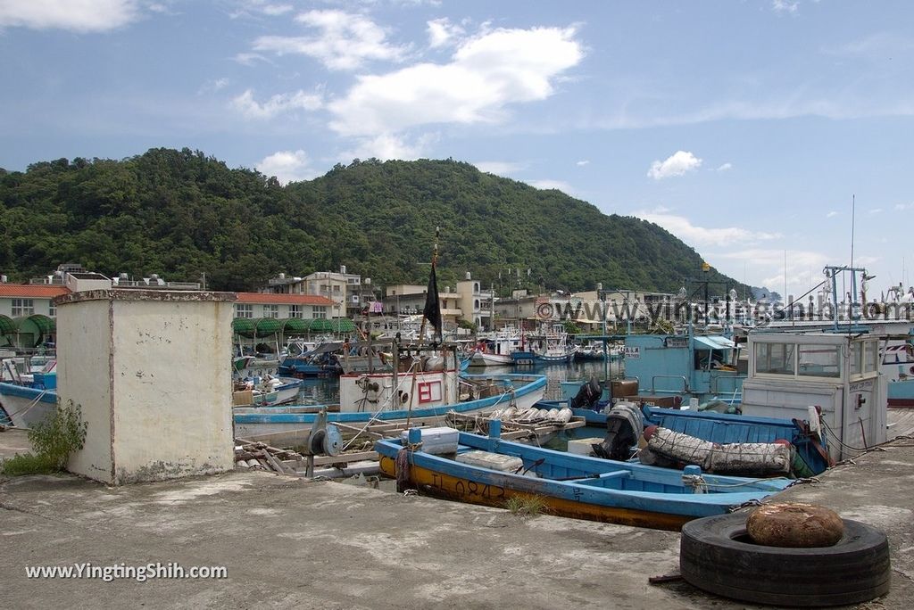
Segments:
[[[2,464],[4,474],[48,474],[63,470],[67,467],[69,454],[85,444],[87,426],[82,421],[80,405],[74,405],[73,401],[58,405],[54,413],[28,431],[34,453],[6,459]]]

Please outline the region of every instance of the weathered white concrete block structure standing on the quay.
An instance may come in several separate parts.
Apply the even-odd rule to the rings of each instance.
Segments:
[[[70,469],[119,485],[233,468],[232,303],[158,290],[83,295],[58,309],[59,395],[89,424]]]

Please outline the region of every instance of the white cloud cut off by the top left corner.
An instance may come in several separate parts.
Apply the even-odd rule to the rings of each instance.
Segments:
[[[140,16],[135,0],[4,0],[0,27],[104,32]]]

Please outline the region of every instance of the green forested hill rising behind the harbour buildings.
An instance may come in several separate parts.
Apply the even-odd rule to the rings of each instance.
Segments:
[[[696,251],[660,226],[452,160],[356,161],[286,186],[187,149],[0,170],[0,272],[11,281],[78,262],[171,280],[205,272],[210,289],[341,264],[376,286],[424,283],[436,226],[441,287],[466,271],[497,285],[501,271],[507,289],[507,268],[546,289],[725,279],[702,274]]]

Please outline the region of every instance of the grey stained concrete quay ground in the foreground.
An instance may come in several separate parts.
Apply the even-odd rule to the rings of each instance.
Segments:
[[[0,446],[14,440],[0,433]],[[914,607],[914,441],[834,468],[784,500],[887,531],[891,592]],[[0,451],[0,455],[3,455]],[[264,472],[107,488],[75,477],[0,482],[0,606],[744,608],[679,582],[679,535]],[[226,566],[225,580],[30,580],[27,566]],[[749,606],[751,607],[751,606]]]

